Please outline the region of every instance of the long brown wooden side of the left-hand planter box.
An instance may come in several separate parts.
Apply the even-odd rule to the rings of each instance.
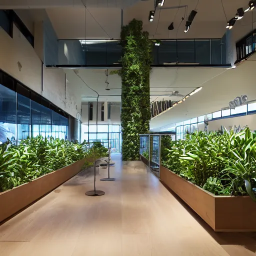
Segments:
[[[88,159],[79,160],[61,169],[33,179],[28,183],[1,192],[0,222],[76,175],[86,160]]]

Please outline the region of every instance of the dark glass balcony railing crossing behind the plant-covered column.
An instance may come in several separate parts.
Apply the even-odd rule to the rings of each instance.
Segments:
[[[223,39],[164,39],[153,45],[152,57],[152,66],[229,65]],[[59,40],[54,66],[120,66],[120,58],[119,40]]]

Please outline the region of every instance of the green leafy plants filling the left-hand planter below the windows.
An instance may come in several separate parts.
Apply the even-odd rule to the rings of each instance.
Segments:
[[[94,159],[106,155],[107,149],[100,143],[89,147],[85,142],[78,144],[42,136],[24,139],[18,146],[1,144],[0,192],[83,158],[88,159],[84,166],[88,167]]]

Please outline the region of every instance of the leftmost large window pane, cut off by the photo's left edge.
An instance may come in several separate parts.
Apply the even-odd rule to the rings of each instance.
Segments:
[[[0,141],[16,143],[16,93],[0,84]]]

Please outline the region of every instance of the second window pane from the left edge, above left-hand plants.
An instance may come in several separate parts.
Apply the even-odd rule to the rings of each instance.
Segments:
[[[17,93],[17,139],[30,136],[30,99]]]

